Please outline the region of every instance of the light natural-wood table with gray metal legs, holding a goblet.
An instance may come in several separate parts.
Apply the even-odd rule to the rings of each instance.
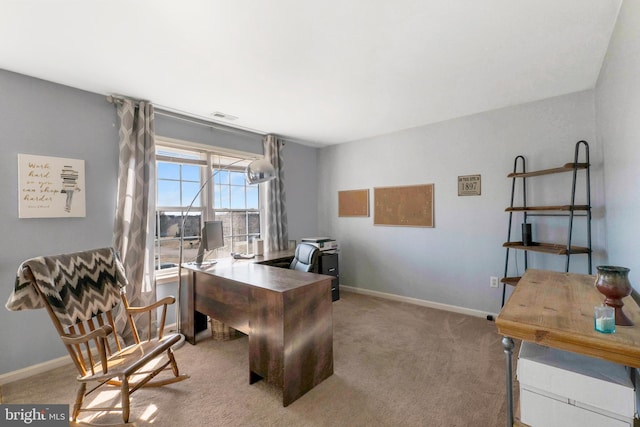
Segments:
[[[507,426],[513,425],[513,338],[640,368],[640,307],[625,298],[623,311],[636,326],[616,326],[607,335],[593,327],[593,307],[602,301],[595,276],[525,272],[496,319],[507,363]]]

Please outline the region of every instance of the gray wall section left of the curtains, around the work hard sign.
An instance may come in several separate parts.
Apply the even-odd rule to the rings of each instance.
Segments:
[[[110,246],[117,116],[103,96],[0,70],[1,297],[24,259]],[[85,218],[18,219],[18,153],[85,160]],[[0,373],[65,354],[44,310],[0,310]]]

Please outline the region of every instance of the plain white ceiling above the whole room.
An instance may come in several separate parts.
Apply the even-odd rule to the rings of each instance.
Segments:
[[[0,0],[0,68],[310,145],[593,88],[622,0]]]

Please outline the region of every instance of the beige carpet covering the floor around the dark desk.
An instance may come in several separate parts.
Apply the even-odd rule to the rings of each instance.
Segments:
[[[485,319],[343,292],[333,304],[334,375],[282,407],[249,385],[247,338],[176,351],[191,378],[132,396],[131,421],[155,426],[503,426],[501,336]],[[71,366],[2,387],[4,403],[65,403]],[[104,393],[94,399],[104,398]],[[93,420],[120,421],[119,414]]]

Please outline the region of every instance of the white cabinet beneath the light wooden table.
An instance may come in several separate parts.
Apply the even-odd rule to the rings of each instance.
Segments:
[[[520,420],[531,427],[633,427],[635,370],[523,342]]]

